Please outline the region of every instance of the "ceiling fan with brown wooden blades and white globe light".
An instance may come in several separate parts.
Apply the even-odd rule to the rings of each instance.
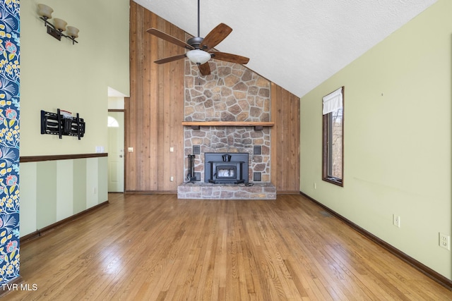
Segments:
[[[199,35],[199,0],[198,0],[198,36],[192,37],[184,42],[176,37],[167,35],[165,32],[157,30],[156,28],[150,28],[147,30],[151,35],[165,39],[165,41],[175,44],[180,47],[188,49],[185,54],[179,54],[177,56],[169,56],[165,59],[155,61],[155,63],[169,63],[171,61],[177,61],[184,59],[185,57],[198,65],[199,71],[202,75],[210,74],[210,66],[208,61],[210,59],[218,59],[220,61],[227,61],[230,63],[246,64],[249,59],[245,56],[239,56],[237,54],[227,54],[225,52],[214,51],[213,47],[217,46],[225,39],[231,32],[232,28],[224,23],[220,23],[217,27],[213,28],[206,37],[200,37]]]

